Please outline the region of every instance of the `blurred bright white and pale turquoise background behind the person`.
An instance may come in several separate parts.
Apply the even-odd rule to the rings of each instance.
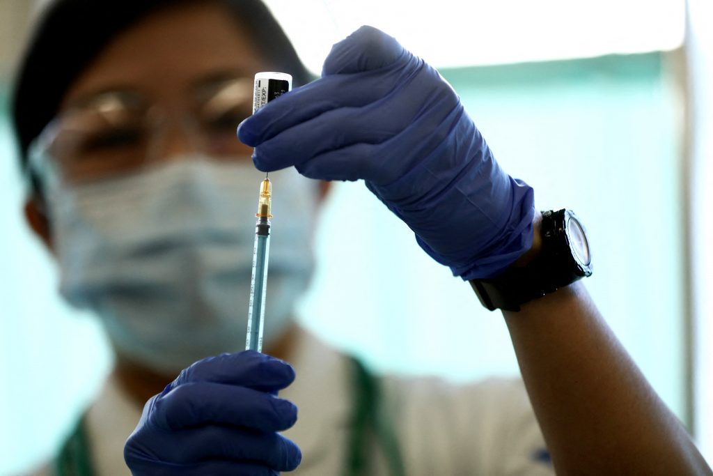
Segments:
[[[438,67],[538,207],[583,219],[590,292],[713,460],[711,2],[267,3],[316,74],[361,24]],[[34,9],[0,0],[0,475],[51,455],[111,367],[101,330],[59,300],[51,259],[22,218],[6,108]],[[363,183],[335,184],[317,237],[299,314],[322,338],[379,372],[517,375],[501,315]]]

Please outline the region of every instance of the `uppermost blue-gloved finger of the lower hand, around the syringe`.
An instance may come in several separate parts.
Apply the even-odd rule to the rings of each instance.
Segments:
[[[289,386],[294,376],[294,368],[284,360],[255,350],[244,350],[199,360],[182,370],[163,394],[189,382],[226,383],[263,392],[276,392]]]

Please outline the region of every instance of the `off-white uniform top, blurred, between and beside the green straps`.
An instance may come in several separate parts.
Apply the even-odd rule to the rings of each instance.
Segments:
[[[352,363],[307,333],[296,354],[297,379],[280,393],[299,408],[297,423],[284,435],[299,445],[302,464],[289,474],[342,474],[354,401]],[[436,378],[384,377],[379,382],[406,475],[554,475],[520,380],[453,385]],[[123,445],[140,413],[108,379],[86,415],[96,476],[130,476]],[[383,452],[375,451],[378,469],[370,474],[389,475]],[[45,468],[33,474],[51,473]]]

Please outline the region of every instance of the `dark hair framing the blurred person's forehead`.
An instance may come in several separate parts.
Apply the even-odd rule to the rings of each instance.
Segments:
[[[31,142],[56,115],[72,81],[106,45],[147,14],[191,1],[206,0],[56,0],[43,11],[11,93],[12,121],[24,171]],[[262,1],[212,1],[225,6],[250,30],[265,58],[292,74],[295,86],[311,79]]]

